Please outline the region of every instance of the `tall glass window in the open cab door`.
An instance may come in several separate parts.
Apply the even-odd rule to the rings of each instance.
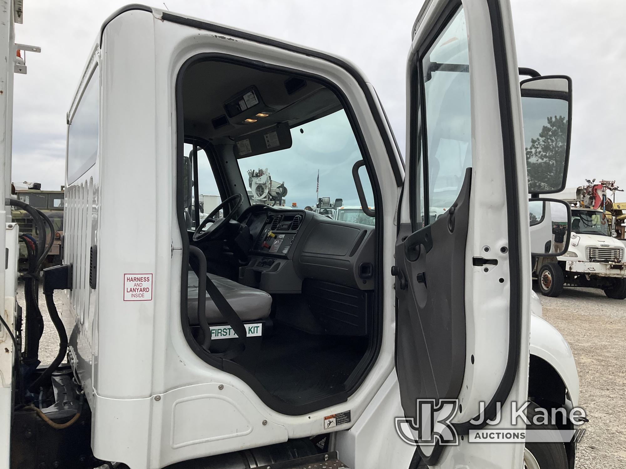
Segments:
[[[459,9],[420,58],[417,93],[422,138],[419,206],[424,224],[433,223],[456,200],[466,168],[471,167],[468,35]],[[424,181],[426,179],[426,181]],[[424,211],[428,210],[428,216]]]

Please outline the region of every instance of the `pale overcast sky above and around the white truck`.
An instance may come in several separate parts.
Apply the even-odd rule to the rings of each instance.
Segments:
[[[16,42],[28,74],[15,76],[13,181],[64,183],[65,114],[103,20],[124,1],[24,3]],[[287,39],[356,63],[377,89],[404,152],[405,63],[421,0],[168,0],[171,11]],[[626,187],[626,2],[512,0],[520,66],[573,80],[573,136],[568,186],[585,178]],[[163,4],[154,4],[163,8]],[[626,196],[618,196],[626,200]]]

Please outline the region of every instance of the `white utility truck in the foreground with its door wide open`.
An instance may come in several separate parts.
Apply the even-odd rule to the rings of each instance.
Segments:
[[[567,158],[528,187],[520,98],[571,103],[570,83],[520,87],[508,0],[426,1],[407,71],[405,163],[344,59],[137,4],[106,19],[67,115],[49,365],[38,328],[19,333],[35,311],[15,302],[19,228],[2,235],[0,467],[573,467],[582,420],[514,418],[527,400],[530,416],[578,405],[567,342],[531,315],[527,194],[561,190]],[[303,168],[339,174],[374,224],[254,204],[247,171],[274,164],[290,191]],[[200,174],[221,198],[202,221]],[[430,206],[448,209],[431,221]],[[435,402],[451,418],[430,437]],[[566,436],[473,441],[526,427]]]

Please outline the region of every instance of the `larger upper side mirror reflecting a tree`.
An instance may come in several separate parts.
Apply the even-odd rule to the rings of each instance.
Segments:
[[[565,189],[572,136],[572,79],[548,75],[521,81],[529,194]]]

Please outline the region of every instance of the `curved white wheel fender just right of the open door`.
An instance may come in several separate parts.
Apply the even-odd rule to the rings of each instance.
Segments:
[[[580,384],[572,349],[554,326],[536,315],[530,315],[530,355],[542,358],[557,371],[572,405],[577,406]]]

